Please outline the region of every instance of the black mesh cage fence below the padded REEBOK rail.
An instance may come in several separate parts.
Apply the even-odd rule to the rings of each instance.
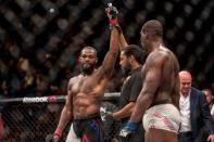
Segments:
[[[113,112],[117,101],[102,101],[101,109]],[[46,142],[46,137],[54,132],[63,102],[58,103],[7,103],[1,111],[3,121],[0,142]],[[119,121],[105,117],[101,113],[104,126],[104,141],[110,142],[119,129]],[[72,120],[65,128],[60,142],[66,140]]]

